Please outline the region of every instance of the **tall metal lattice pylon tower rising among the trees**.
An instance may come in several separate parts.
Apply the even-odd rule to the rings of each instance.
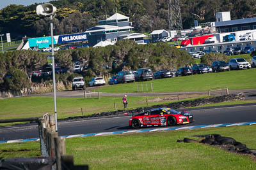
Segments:
[[[169,30],[182,30],[179,0],[168,0]]]

